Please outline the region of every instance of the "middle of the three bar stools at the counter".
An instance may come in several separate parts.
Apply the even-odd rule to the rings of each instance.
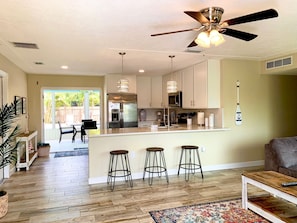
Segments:
[[[145,157],[144,170],[143,170],[143,180],[145,178],[146,172],[148,173],[149,185],[153,184],[153,177],[154,177],[155,173],[157,173],[158,176],[160,177],[163,172],[166,175],[167,183],[169,183],[163,148],[161,148],[161,147],[146,148],[146,157]]]

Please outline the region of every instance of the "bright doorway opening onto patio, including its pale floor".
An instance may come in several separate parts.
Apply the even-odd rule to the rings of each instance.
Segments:
[[[88,140],[81,137],[82,120],[96,121],[100,128],[99,89],[43,89],[43,138],[51,152],[87,148]],[[60,123],[60,125],[59,125]],[[77,133],[62,134],[60,126]]]

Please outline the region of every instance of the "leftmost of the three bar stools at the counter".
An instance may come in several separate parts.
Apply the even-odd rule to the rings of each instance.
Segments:
[[[112,191],[114,190],[117,177],[124,177],[125,181],[130,184],[130,187],[133,187],[128,153],[128,150],[110,151],[107,184],[110,184]]]

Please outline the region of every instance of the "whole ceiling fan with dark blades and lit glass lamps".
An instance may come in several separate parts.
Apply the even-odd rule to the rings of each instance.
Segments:
[[[191,16],[193,19],[197,20],[201,26],[198,28],[184,29],[172,32],[157,33],[152,34],[151,36],[160,36],[166,34],[187,32],[187,31],[200,31],[197,38],[195,38],[188,47],[202,46],[209,47],[210,43],[214,45],[219,45],[224,41],[224,38],[221,34],[232,36],[245,41],[250,41],[257,37],[257,35],[252,33],[247,33],[235,29],[227,28],[228,26],[253,22],[263,19],[270,19],[278,16],[278,13],[274,9],[268,9],[244,16],[240,16],[233,19],[228,19],[221,22],[222,14],[224,9],[220,7],[209,7],[202,9],[198,12],[196,11],[185,11],[187,15]]]

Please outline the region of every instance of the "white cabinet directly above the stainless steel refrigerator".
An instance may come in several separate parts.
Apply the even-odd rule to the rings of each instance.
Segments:
[[[125,78],[129,81],[128,93],[136,93],[136,75],[107,74],[105,76],[106,92],[118,93],[118,81]]]

